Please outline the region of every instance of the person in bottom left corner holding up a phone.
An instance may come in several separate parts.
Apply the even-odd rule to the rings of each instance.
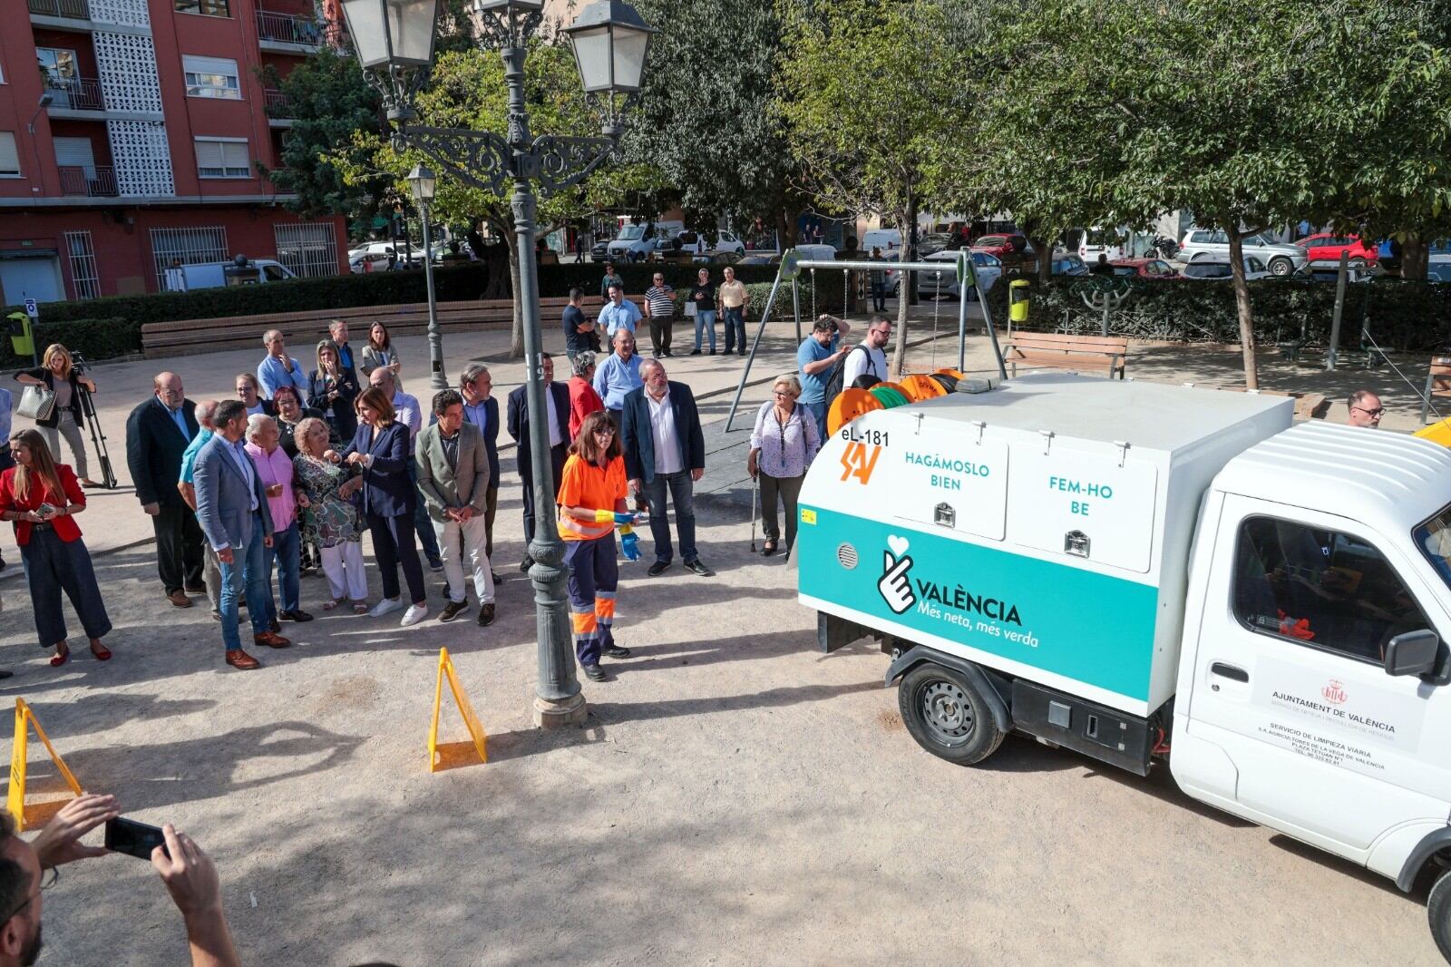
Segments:
[[[16,835],[15,819],[0,812],[0,967],[28,967],[41,955],[42,890],[59,880],[59,867],[103,857],[103,846],[83,846],[81,836],[116,819],[113,796],[86,794],[65,803],[41,833],[26,842]],[[216,867],[186,833],[168,823],[167,845],[151,852],[155,867],[181,910],[192,967],[241,967],[222,912],[222,884]]]

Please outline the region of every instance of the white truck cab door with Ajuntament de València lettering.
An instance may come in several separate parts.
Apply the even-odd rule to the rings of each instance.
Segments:
[[[1445,822],[1447,687],[1390,677],[1381,661],[1403,632],[1447,640],[1451,617],[1425,562],[1405,556],[1409,534],[1355,531],[1342,517],[1225,499],[1188,730],[1233,759],[1245,816],[1364,860],[1393,826]]]

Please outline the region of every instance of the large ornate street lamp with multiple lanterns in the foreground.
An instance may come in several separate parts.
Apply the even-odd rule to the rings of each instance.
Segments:
[[[585,697],[575,674],[569,610],[564,601],[564,544],[554,526],[553,468],[548,447],[544,378],[540,360],[538,270],[534,256],[534,181],[544,196],[577,184],[615,155],[621,118],[640,96],[646,55],[654,28],[620,0],[596,0],[564,32],[570,36],[585,94],[601,119],[598,138],[530,135],[524,102],[524,60],[530,35],[543,17],[543,0],[473,0],[467,12],[480,46],[498,49],[508,87],[508,131],[414,126],[414,102],[432,71],[438,0],[342,0],[342,15],[363,65],[364,80],[379,91],[393,122],[393,142],[428,157],[459,181],[502,195],[512,181],[509,205],[519,261],[515,293],[524,317],[525,398],[530,414],[535,529],[530,543],[538,630],[538,678],[534,722],[541,727],[585,720]],[[427,229],[425,229],[427,237]],[[432,272],[432,267],[428,267]],[[432,299],[429,299],[429,305]],[[435,324],[429,321],[429,338]],[[432,348],[432,346],[431,346]],[[440,357],[435,356],[435,366]],[[437,370],[435,370],[437,375]]]

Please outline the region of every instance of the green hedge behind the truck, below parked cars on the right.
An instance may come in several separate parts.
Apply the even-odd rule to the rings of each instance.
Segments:
[[[1075,279],[1035,280],[1029,322],[1035,331],[1098,332],[1101,315],[1088,309]],[[1235,290],[1228,282],[1129,280],[1132,295],[1110,315],[1110,332],[1190,343],[1238,343]],[[1335,312],[1335,283],[1265,279],[1249,283],[1255,340],[1325,346]],[[988,293],[992,319],[1007,324],[1007,286]],[[1451,285],[1377,279],[1347,286],[1341,346],[1360,344],[1361,319],[1384,348],[1439,351],[1451,343]]]

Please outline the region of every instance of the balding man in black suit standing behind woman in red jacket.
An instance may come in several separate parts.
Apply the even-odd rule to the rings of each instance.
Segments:
[[[199,430],[196,404],[186,398],[176,373],[160,373],[151,388],[155,395],[132,409],[126,420],[126,463],[136,485],[136,499],[151,514],[157,533],[161,587],[171,604],[189,608],[192,598],[186,592],[206,591],[202,529],[177,489],[181,454]]]

